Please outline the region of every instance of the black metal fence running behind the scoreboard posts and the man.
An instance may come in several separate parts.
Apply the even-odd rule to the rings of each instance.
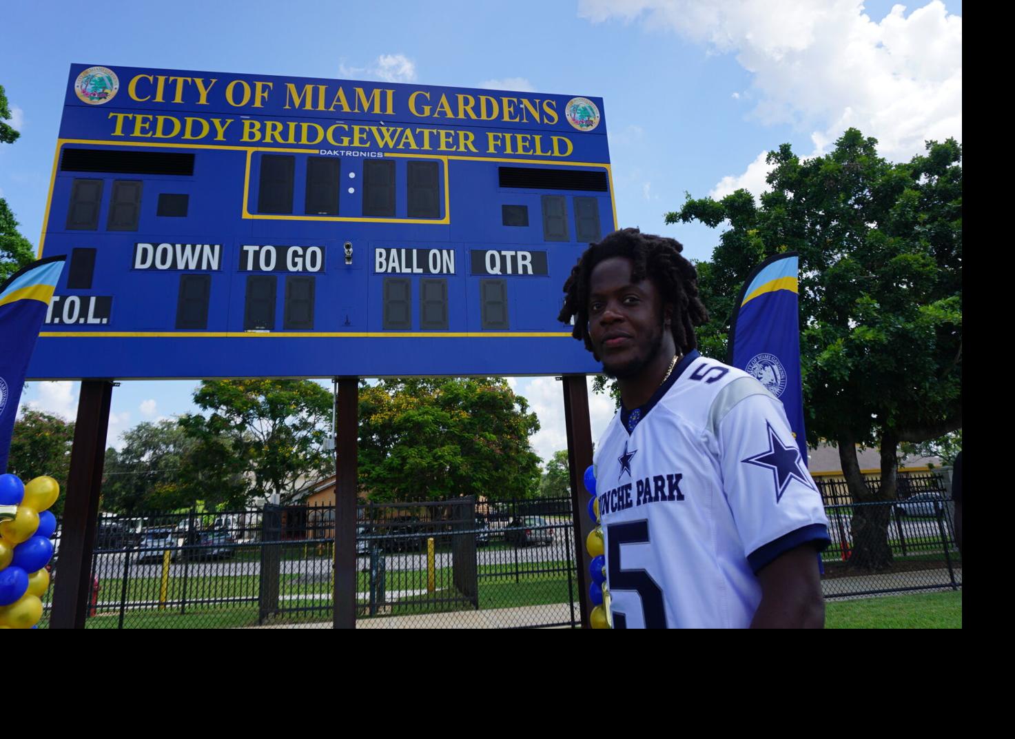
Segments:
[[[826,507],[826,598],[961,586],[951,502],[919,495]],[[334,536],[328,506],[104,516],[86,627],[330,627]],[[360,506],[357,627],[577,625],[574,549],[568,498]]]

